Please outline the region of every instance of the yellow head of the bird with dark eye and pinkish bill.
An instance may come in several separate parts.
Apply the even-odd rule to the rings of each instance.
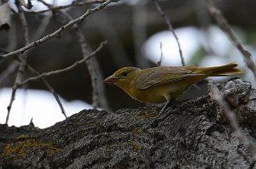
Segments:
[[[136,67],[123,67],[116,70],[112,76],[108,76],[103,82],[105,84],[114,84],[124,89],[136,80],[138,70],[140,69]]]

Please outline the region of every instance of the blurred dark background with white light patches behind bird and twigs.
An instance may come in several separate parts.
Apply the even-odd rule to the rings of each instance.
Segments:
[[[27,3],[27,1],[24,2]],[[83,6],[62,9],[62,12],[55,10],[34,14],[32,11],[41,11],[47,7],[42,1],[32,0],[31,2],[31,9],[24,8],[30,42],[67,24],[69,20],[62,12],[75,19],[84,14],[88,8],[100,5],[100,3],[88,3]],[[60,6],[73,1],[45,2],[52,6]],[[253,54],[253,60],[255,60],[256,1],[215,0],[213,2],[229,21],[240,42]],[[247,70],[242,55],[224,32],[215,25],[204,1],[161,0],[159,4],[168,19],[171,20],[186,65],[212,66],[238,62],[241,69],[246,71],[241,78],[252,82],[255,87],[253,74]],[[11,23],[8,31],[0,31],[1,54],[24,46],[20,20],[15,12],[17,11],[15,0],[9,1],[9,5],[12,10]],[[102,82],[104,78],[124,66],[136,66],[142,69],[156,66],[160,61],[161,54],[163,55],[162,65],[181,65],[177,41],[151,0],[121,0],[118,3],[111,3],[107,8],[86,17],[79,24],[79,28],[86,39],[87,49],[90,52],[95,50],[101,42],[108,41],[108,45],[102,48],[90,62],[90,65],[96,70],[98,82]],[[67,67],[82,59],[82,50],[78,37],[75,35],[76,32],[73,28],[68,28],[61,33],[61,38],[50,39],[33,48],[28,53],[28,64],[39,72],[47,72]],[[7,115],[11,87],[14,85],[17,69],[18,64],[15,59],[8,59],[0,63],[1,123],[4,123]],[[26,77],[29,76],[34,75],[26,70]],[[226,81],[229,78],[214,77],[213,80]],[[68,116],[78,113],[79,110],[92,108],[93,88],[86,65],[79,65],[65,73],[46,77],[46,80],[61,96]],[[101,109],[115,111],[144,105],[132,100],[118,87],[103,86],[102,83],[100,86],[102,92],[97,101]],[[207,92],[207,82],[199,82],[197,86],[199,88],[192,87],[181,99],[195,98]],[[64,115],[61,114],[58,104],[52,94],[47,91],[43,82],[32,81],[23,88],[26,90],[19,90],[16,93],[9,125],[26,125],[33,118],[36,126],[49,127],[56,121],[64,120]]]

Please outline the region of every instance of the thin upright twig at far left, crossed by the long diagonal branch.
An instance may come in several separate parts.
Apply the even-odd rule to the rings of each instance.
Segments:
[[[25,14],[23,12],[23,9],[21,8],[20,0],[15,0],[15,5],[18,8],[19,19],[20,19],[20,23],[21,23],[22,31],[23,31],[23,40],[25,41],[25,45],[27,45],[29,43],[29,40],[28,40],[28,27],[27,27],[27,23],[26,23]],[[20,67],[19,67],[17,76],[15,78],[15,84],[13,86],[13,92],[12,92],[12,95],[11,95],[9,106],[7,107],[8,113],[7,113],[7,116],[6,116],[5,124],[7,124],[8,121],[9,121],[10,110],[12,108],[12,104],[15,101],[15,93],[17,91],[17,88],[19,87],[18,84],[21,82],[22,77],[24,76],[23,73],[24,73],[24,70],[26,68],[26,58],[27,58],[26,54],[22,54],[20,56]]]

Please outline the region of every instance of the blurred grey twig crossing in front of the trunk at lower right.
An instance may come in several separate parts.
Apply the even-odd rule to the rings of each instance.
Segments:
[[[216,87],[212,82],[210,82],[210,90],[212,93],[212,99],[216,100],[218,105],[222,110],[224,110],[224,115],[230,121],[230,126],[233,128],[236,133],[236,138],[239,142],[245,146],[245,148],[251,153],[253,161],[256,161],[256,151],[247,137],[241,132],[241,128],[238,125],[236,115],[233,111],[230,110],[230,105],[224,100],[224,96],[219,93],[218,87]]]

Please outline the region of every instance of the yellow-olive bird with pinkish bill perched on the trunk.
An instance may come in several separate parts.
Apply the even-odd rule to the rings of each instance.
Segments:
[[[243,73],[236,62],[212,66],[157,66],[147,69],[137,67],[123,67],[108,76],[103,83],[113,84],[125,91],[132,99],[139,102],[167,104],[177,99],[196,82],[208,76],[231,76]]]

